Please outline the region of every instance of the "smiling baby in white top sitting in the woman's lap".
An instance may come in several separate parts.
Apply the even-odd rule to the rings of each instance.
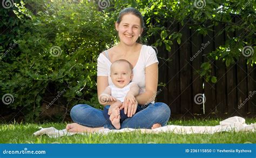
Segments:
[[[103,93],[99,95],[100,103],[116,100],[124,102],[126,100],[134,104],[136,102],[134,96],[139,94],[139,87],[136,83],[131,82],[133,78],[131,63],[124,59],[116,60],[112,63],[110,71],[113,85],[107,86]],[[109,112],[109,106],[105,106],[103,115],[116,129],[120,129],[120,123],[128,118],[124,114],[124,109],[120,111],[118,107]]]

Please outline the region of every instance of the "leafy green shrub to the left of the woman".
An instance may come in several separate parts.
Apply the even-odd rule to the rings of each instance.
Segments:
[[[8,42],[15,45],[0,61],[0,94],[14,96],[14,102],[5,106],[22,109],[27,121],[45,111],[45,104],[58,104],[56,100],[68,109],[85,103],[99,108],[97,57],[115,40],[107,29],[107,16],[87,2],[45,3],[36,15],[23,2],[13,10],[15,16],[5,20],[15,21],[17,26],[11,29],[16,32],[1,39],[3,50],[10,47]],[[8,15],[12,10],[1,12]],[[49,94],[54,101],[47,99]]]

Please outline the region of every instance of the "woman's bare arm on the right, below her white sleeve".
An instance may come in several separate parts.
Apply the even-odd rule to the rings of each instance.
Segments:
[[[157,94],[158,85],[158,64],[154,63],[146,67],[145,70],[145,88],[146,91],[142,94],[137,95],[135,98],[138,104],[145,105],[154,101]]]

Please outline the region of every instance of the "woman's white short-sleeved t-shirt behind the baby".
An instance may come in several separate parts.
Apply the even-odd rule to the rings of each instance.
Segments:
[[[113,85],[110,77],[111,62],[107,57],[100,53],[97,63],[97,76],[107,76],[109,85]],[[145,92],[145,68],[154,63],[158,63],[156,51],[151,46],[143,45],[139,53],[139,59],[133,67],[132,82],[139,86],[139,93]]]

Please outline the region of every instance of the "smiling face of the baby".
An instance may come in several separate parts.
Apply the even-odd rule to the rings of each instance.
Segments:
[[[114,63],[111,67],[111,80],[118,88],[123,88],[132,80],[132,70],[127,63]]]

